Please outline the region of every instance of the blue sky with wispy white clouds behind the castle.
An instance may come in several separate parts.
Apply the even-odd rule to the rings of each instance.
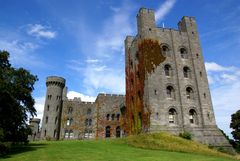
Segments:
[[[125,93],[124,39],[136,34],[140,7],[157,25],[177,28],[196,17],[218,126],[230,134],[240,108],[239,0],[0,0],[0,49],[15,67],[38,75],[33,93],[42,117],[45,79],[67,80],[68,96],[93,101],[99,92]]]

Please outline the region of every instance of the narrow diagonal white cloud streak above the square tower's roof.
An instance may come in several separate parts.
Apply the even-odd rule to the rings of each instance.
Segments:
[[[156,21],[161,21],[171,11],[176,0],[166,0],[155,12]]]

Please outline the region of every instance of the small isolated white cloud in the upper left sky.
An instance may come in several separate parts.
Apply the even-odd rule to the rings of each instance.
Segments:
[[[53,39],[57,35],[55,31],[49,30],[48,26],[43,26],[41,24],[28,25],[27,33],[29,35],[32,35],[38,38],[46,38],[46,39]]]

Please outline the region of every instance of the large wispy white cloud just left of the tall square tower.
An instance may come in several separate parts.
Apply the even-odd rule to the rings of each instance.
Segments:
[[[91,31],[86,22],[79,24],[79,42],[87,57],[84,64],[68,64],[68,68],[81,73],[86,93],[124,93],[124,39],[132,35],[136,26],[130,18],[135,11],[124,1],[118,8],[110,7],[112,14],[103,21],[98,31]]]

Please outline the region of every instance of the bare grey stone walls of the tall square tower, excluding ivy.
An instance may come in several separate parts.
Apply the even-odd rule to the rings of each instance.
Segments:
[[[145,76],[142,101],[151,109],[148,131],[177,135],[187,131],[201,143],[231,148],[216,125],[195,18],[184,16],[178,30],[161,28],[156,26],[154,11],[141,8],[137,29],[135,37],[125,40],[126,66],[134,66],[131,70],[137,72],[138,43],[144,39],[158,41],[166,58]]]

